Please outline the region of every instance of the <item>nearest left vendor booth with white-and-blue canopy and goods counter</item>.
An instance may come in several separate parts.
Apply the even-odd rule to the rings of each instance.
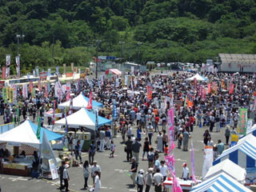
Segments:
[[[38,126],[26,120],[21,125],[15,127],[12,130],[9,130],[3,134],[0,134],[0,142],[14,146],[14,155],[10,155],[10,152],[6,154],[6,157],[3,158],[1,165],[1,172],[3,174],[17,174],[22,176],[29,176],[30,170],[33,165],[34,157],[26,151],[34,151],[34,153],[41,153],[42,142],[46,143],[50,148],[50,141],[58,140],[63,138],[61,134],[56,134],[50,130],[41,128],[40,138],[37,138]],[[22,150],[26,153],[25,156],[20,154],[19,148],[25,146]],[[43,147],[45,147],[44,145]],[[3,147],[3,148],[6,148]],[[26,150],[27,149],[27,150]],[[41,149],[41,150],[39,150]],[[39,150],[39,152],[38,152]],[[33,153],[33,152],[32,152]],[[43,153],[41,153],[43,154]],[[49,153],[48,153],[49,154]],[[42,155],[43,156],[43,155]],[[51,155],[54,158],[53,155]]]

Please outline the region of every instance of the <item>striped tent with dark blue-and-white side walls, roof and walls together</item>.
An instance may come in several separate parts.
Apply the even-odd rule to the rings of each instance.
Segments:
[[[223,153],[214,161],[214,165],[225,159],[230,159],[231,162],[236,163],[242,168],[255,167],[256,166],[256,139],[254,136],[248,136],[246,139],[242,139],[237,145],[224,150]]]

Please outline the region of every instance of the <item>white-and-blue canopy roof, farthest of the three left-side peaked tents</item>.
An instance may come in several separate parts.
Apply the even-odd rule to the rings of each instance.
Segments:
[[[73,109],[80,109],[82,107],[86,107],[88,105],[89,100],[90,99],[86,98],[86,96],[84,96],[81,92],[77,97],[73,98],[72,108]],[[70,101],[62,102],[61,104],[58,105],[58,108],[63,109],[66,106],[70,106]],[[103,106],[103,105],[100,102],[93,101],[93,107],[94,106]]]

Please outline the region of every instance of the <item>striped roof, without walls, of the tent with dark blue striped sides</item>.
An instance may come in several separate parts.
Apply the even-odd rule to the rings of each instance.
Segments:
[[[242,142],[238,142],[237,145],[230,147],[227,150],[224,150],[223,153],[216,158],[215,161],[218,161],[220,158],[225,157],[226,155],[234,152],[235,150],[240,150],[242,151],[242,153],[250,156],[250,158],[253,158],[254,160],[256,160],[256,147],[254,146],[254,142],[252,142],[251,140],[245,140]]]

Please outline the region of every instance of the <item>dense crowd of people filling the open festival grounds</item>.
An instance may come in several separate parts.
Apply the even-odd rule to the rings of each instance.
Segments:
[[[188,151],[188,142],[194,126],[208,126],[209,130],[202,133],[202,140],[206,146],[214,147],[214,158],[222,154],[225,145],[220,139],[214,144],[211,140],[211,132],[219,132],[221,128],[224,128],[225,144],[229,145],[230,135],[237,134],[239,109],[255,110],[254,82],[256,76],[254,74],[204,73],[202,75],[207,78],[207,81],[188,82],[186,78],[193,76],[193,73],[171,72],[168,75],[138,71],[134,73],[134,75],[130,75],[130,72],[125,74],[130,75],[127,82],[124,81],[124,77],[118,80],[115,77],[104,78],[103,81],[96,78],[81,79],[79,82],[71,83],[71,91],[74,97],[80,92],[89,97],[92,92],[93,100],[101,102],[106,108],[113,109],[116,105],[115,117],[112,111],[106,114],[104,110],[100,110],[98,115],[112,119],[114,129],[122,135],[122,142],[126,146],[126,161],[132,162],[130,178],[133,185],[137,184],[138,191],[142,191],[143,186],[146,186],[146,191],[150,191],[153,183],[155,191],[162,191],[162,182],[169,174],[164,165],[165,162],[159,159],[159,154],[167,154],[169,142],[168,134],[166,134],[168,131],[166,130],[168,129],[167,111],[171,107],[174,107],[174,140],[177,141],[178,149]],[[231,88],[232,85],[234,85],[233,88]],[[150,98],[149,86],[152,91]],[[202,88],[207,90],[203,96]],[[230,91],[230,89],[234,90]],[[22,90],[18,90],[18,93],[19,91]],[[44,112],[54,108],[54,103],[56,103],[55,108],[58,108],[58,104],[65,101],[67,94],[64,92],[61,98],[57,98],[54,95],[54,86],[51,86],[49,97],[45,98],[43,91],[39,91],[35,98],[29,94],[29,98],[20,99],[17,105],[2,101],[0,114],[3,115],[4,122],[17,122],[20,120],[19,116],[23,119],[32,116],[33,121],[36,117],[43,119]],[[42,126],[43,122],[42,120]],[[53,123],[54,121],[49,118],[48,124]],[[142,134],[146,135],[143,141]],[[152,141],[154,134],[157,134],[157,140]],[[87,179],[91,173],[94,179],[94,191],[98,191],[96,189],[100,186],[101,171],[100,168],[94,170],[95,165],[91,167],[95,163],[94,154],[97,150],[102,152],[110,150],[110,157],[114,158],[116,145],[113,136],[109,127],[104,126],[98,130],[96,134],[98,139],[90,145],[89,161],[83,164],[85,188],[88,187]],[[155,149],[152,147],[154,144]],[[82,162],[79,155],[81,150],[79,143],[77,146],[74,151],[75,156]],[[141,151],[142,154],[140,154]],[[144,170],[138,171],[140,156],[142,156],[142,161],[148,161],[146,174]],[[67,172],[64,171],[67,167],[65,165],[63,167],[65,182],[65,179],[68,179],[65,174]],[[183,170],[182,178],[188,179],[188,168],[185,164],[183,167],[185,170]],[[67,190],[67,181],[65,186]]]

